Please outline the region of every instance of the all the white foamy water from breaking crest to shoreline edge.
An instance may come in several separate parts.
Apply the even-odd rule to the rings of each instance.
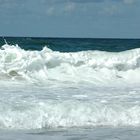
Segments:
[[[62,53],[5,44],[0,129],[140,126],[139,88],[130,88],[140,83],[139,73],[140,49]]]

